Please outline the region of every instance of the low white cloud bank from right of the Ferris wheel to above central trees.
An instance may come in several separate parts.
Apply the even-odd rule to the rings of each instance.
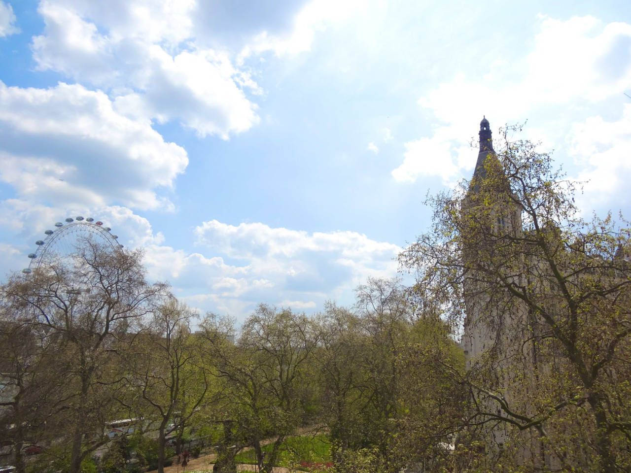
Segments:
[[[202,311],[239,318],[261,301],[304,310],[348,296],[369,276],[394,276],[394,258],[401,251],[351,231],[307,233],[262,223],[233,226],[211,220],[194,235],[204,247],[199,253],[146,245],[144,264],[150,277],[170,281],[179,297]]]

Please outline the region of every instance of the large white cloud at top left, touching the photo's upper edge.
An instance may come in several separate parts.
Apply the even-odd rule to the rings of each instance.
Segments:
[[[121,113],[158,122],[177,120],[201,136],[227,139],[259,121],[261,89],[230,57],[191,38],[196,3],[44,0],[44,34],[33,37],[33,58],[109,91]],[[114,15],[114,12],[116,13]],[[182,43],[184,40],[189,40]]]

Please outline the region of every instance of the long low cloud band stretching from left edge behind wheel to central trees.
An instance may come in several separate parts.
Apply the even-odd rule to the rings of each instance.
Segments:
[[[168,281],[178,297],[201,312],[230,313],[240,319],[261,301],[295,310],[315,310],[329,299],[352,303],[352,289],[367,277],[396,275],[395,258],[401,251],[397,245],[352,231],[308,233],[212,220],[194,230],[201,251],[187,252],[165,245],[163,235],[127,207],[59,209],[9,199],[0,202],[0,225],[24,243],[7,247],[10,257],[1,262],[0,271],[28,266],[27,254],[35,250],[35,240],[54,229],[55,221],[78,215],[103,221],[126,248],[143,248],[150,280]]]

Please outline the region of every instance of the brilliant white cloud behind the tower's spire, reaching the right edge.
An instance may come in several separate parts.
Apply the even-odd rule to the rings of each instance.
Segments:
[[[494,62],[485,81],[457,74],[423,95],[418,103],[432,112],[437,126],[432,136],[406,143],[404,161],[392,170],[392,177],[414,182],[418,177],[438,176],[446,182],[463,175],[475,163],[467,141],[483,114],[502,123],[533,117],[537,123],[538,114],[550,122],[550,117],[567,114],[570,125],[565,129],[558,123],[542,126],[541,121],[526,129],[526,137],[534,141],[562,145],[571,123],[587,118],[579,115],[584,110],[576,103],[589,110],[620,95],[631,83],[631,25],[603,26],[591,16],[567,21],[542,16],[521,81],[502,81],[504,67],[502,61]]]

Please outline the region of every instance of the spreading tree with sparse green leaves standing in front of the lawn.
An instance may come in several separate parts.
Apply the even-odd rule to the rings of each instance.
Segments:
[[[232,418],[223,424],[231,432],[237,426],[238,437],[254,447],[259,469],[269,473],[283,440],[302,420],[309,384],[304,370],[319,339],[315,325],[304,314],[261,304],[245,320],[237,344],[226,342],[232,327],[225,319],[209,315],[204,331],[217,375],[232,392],[233,409],[226,412]],[[274,440],[264,455],[261,441],[267,437]]]

